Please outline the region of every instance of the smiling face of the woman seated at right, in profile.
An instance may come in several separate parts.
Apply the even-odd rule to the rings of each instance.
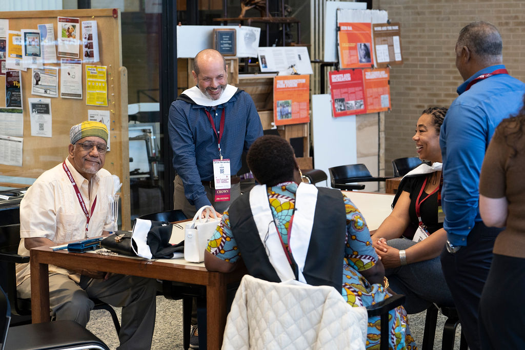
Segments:
[[[433,122],[432,115],[423,114],[416,124],[416,133],[412,137],[416,143],[416,152],[419,159],[441,162],[441,148],[439,147],[439,132]]]

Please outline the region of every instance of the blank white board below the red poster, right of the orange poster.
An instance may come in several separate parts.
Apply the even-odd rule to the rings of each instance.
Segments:
[[[314,168],[328,176],[328,168],[357,163],[355,115],[332,118],[330,94],[312,95]],[[318,185],[320,185],[319,183]]]

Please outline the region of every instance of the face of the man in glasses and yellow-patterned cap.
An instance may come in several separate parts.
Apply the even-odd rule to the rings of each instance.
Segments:
[[[87,136],[78,140],[76,144],[69,145],[69,161],[80,175],[90,180],[104,166],[106,153],[99,153],[97,147],[92,147],[90,151],[84,151],[82,145],[79,145],[79,143],[84,142],[106,145],[106,141],[98,136]]]

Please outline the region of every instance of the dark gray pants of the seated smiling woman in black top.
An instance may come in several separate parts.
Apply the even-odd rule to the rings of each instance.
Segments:
[[[391,239],[387,243],[399,250],[408,249],[416,244],[406,238]],[[390,283],[390,288],[406,296],[403,306],[409,314],[422,312],[432,303],[454,306],[452,295],[443,276],[439,256],[394,269],[386,269],[385,275]]]

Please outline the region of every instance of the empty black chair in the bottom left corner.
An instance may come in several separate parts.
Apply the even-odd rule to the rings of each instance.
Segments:
[[[54,321],[9,327],[11,308],[0,288],[0,349],[98,349],[109,350],[98,337],[75,321]]]

